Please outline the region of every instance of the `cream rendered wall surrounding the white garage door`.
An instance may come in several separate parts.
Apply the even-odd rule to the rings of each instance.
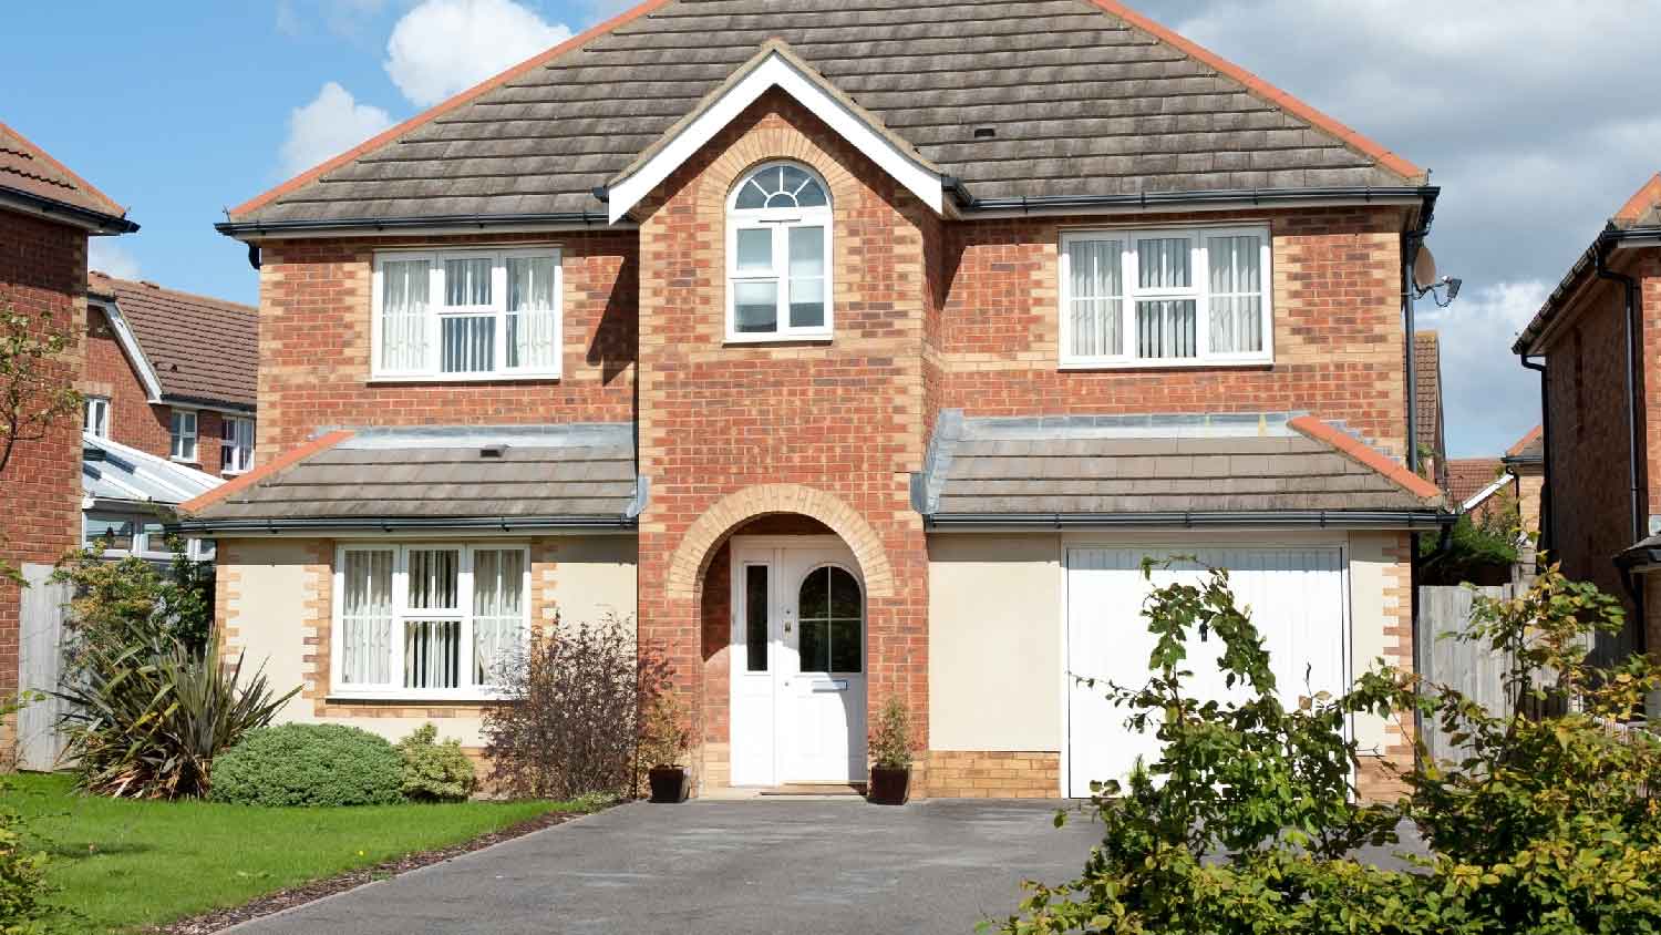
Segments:
[[[1350,676],[1394,656],[1400,613],[1392,591],[1405,563],[1387,555],[1400,533],[958,533],[928,540],[928,737],[938,751],[1058,751],[1063,746],[1063,548],[1344,546],[1349,560]],[[1410,659],[1409,659],[1410,664]],[[1354,722],[1360,752],[1382,752],[1385,724]]]

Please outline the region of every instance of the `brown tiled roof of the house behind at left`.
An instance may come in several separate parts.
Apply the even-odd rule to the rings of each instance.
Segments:
[[[135,365],[156,380],[153,402],[254,409],[257,309],[98,271],[86,274],[86,292],[93,302],[115,306],[111,326],[116,334],[130,330],[140,357]]]

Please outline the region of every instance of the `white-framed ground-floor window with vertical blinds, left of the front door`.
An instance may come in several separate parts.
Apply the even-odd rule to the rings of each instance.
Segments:
[[[342,545],[331,693],[482,699],[530,641],[530,550],[500,543]]]

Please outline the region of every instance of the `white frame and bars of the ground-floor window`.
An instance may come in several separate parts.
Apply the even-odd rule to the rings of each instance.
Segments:
[[[457,558],[457,613],[424,609],[409,606],[409,553],[422,550],[455,550]],[[342,683],[344,656],[341,643],[344,634],[345,606],[345,555],[349,551],[390,551],[392,553],[392,629],[389,634],[392,658],[387,663],[385,684],[352,684]],[[530,543],[523,540],[497,541],[342,541],[334,550],[332,600],[329,621],[329,698],[342,699],[385,699],[385,701],[495,701],[508,693],[500,686],[482,686],[473,683],[473,553],[475,551],[518,551],[523,560],[520,573],[520,644],[530,648],[532,626],[532,555]],[[460,621],[460,643],[463,658],[460,659],[460,686],[457,688],[404,688],[404,628],[405,623],[457,619]]]

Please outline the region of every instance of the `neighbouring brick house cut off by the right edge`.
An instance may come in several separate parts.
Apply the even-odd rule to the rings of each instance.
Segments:
[[[1661,649],[1661,174],[1610,218],[1512,352],[1540,370],[1545,399],[1541,548],[1626,605],[1629,626],[1600,634],[1598,656]]]

